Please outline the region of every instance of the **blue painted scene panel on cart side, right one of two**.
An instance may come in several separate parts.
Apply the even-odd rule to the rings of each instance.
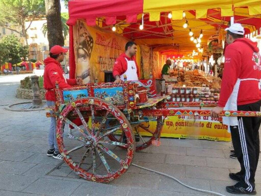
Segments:
[[[104,99],[114,105],[124,104],[122,87],[96,88],[94,89],[94,97]]]

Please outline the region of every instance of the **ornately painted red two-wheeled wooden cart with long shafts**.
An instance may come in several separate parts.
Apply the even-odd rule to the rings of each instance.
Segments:
[[[57,117],[58,148],[76,174],[95,182],[115,180],[128,170],[135,151],[160,145],[166,117],[210,115],[209,110],[168,109],[168,95],[147,98],[155,88],[153,85],[146,88],[150,83],[152,80],[125,81],[118,85],[94,83],[69,89],[59,89],[56,85],[56,104],[49,108],[51,112],[47,116]],[[221,114],[257,115],[261,113],[226,111]],[[156,122],[155,130],[146,126],[149,121]],[[67,129],[66,124],[74,129]],[[140,141],[135,142],[134,136]]]

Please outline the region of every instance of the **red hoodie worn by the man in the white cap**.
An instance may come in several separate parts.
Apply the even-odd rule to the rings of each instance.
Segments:
[[[261,78],[261,57],[257,42],[247,38],[236,39],[226,47],[225,65],[221,83],[218,106],[224,107],[231,95],[237,79]],[[261,100],[258,81],[244,80],[240,82],[238,105],[245,105]]]

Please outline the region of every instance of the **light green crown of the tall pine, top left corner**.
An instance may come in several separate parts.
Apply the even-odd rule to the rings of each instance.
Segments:
[[[0,0],[0,10],[0,26],[19,33],[27,43],[26,32],[33,20],[44,16],[45,3],[44,0]],[[26,20],[31,21],[27,28]]]

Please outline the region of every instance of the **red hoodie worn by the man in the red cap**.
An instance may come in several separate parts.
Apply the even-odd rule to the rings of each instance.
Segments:
[[[76,79],[65,79],[63,77],[63,70],[61,64],[53,58],[46,58],[44,60],[44,88],[46,89],[45,99],[47,101],[55,101],[55,82],[59,84],[59,88],[70,88],[70,85],[76,85]]]

